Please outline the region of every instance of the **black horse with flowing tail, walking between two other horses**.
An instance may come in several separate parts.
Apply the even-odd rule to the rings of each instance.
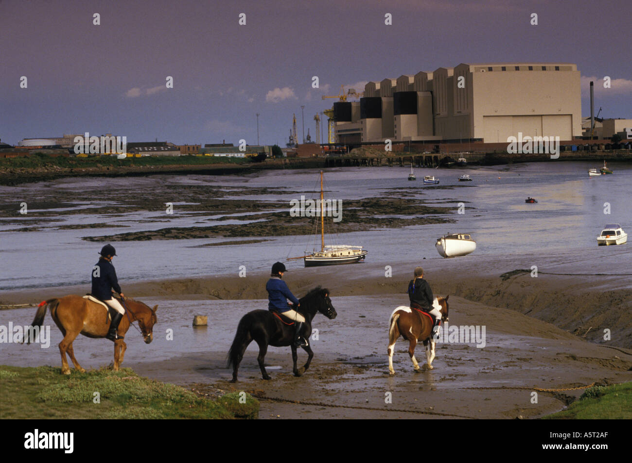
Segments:
[[[331,305],[331,299],[329,299],[329,290],[325,290],[318,286],[307,293],[303,298],[299,299],[301,303],[296,312],[305,317],[305,323],[303,324],[303,332],[301,333],[305,339],[312,334],[312,319],[317,312],[325,315],[330,320],[336,318],[336,309]],[[284,319],[284,317],[283,317]],[[227,368],[233,366],[233,379],[231,382],[237,381],[237,369],[243,358],[243,353],[246,351],[248,344],[252,341],[256,341],[259,345],[259,355],[257,361],[259,362],[259,368],[261,368],[261,374],[264,379],[270,379],[268,373],[265,371],[264,358],[267,353],[268,346],[284,347],[291,346],[292,348],[292,360],[294,361],[293,372],[295,376],[301,376],[307,368],[310,366],[314,353],[310,346],[305,346],[303,349],[308,354],[307,363],[305,366],[296,368],[296,347],[294,345],[294,326],[286,324],[287,320],[281,320],[277,315],[270,310],[253,310],[248,314],[241,317],[239,325],[237,326],[237,333],[233,340],[233,345],[228,351],[228,365]]]

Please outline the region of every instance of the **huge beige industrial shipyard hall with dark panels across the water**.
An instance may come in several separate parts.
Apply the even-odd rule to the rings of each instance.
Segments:
[[[581,137],[580,71],[570,63],[480,63],[372,81],[334,103],[341,144]]]

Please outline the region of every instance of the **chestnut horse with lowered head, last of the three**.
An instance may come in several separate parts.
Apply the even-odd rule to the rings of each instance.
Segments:
[[[154,324],[156,322],[156,309],[150,308],[140,301],[130,298],[117,298],[121,305],[126,308],[126,315],[123,315],[121,323],[118,327],[118,334],[124,336],[130,328],[131,322],[138,320],[138,326],[142,332],[145,343],[152,342]],[[31,326],[41,326],[46,317],[46,309],[51,311],[51,317],[55,324],[59,327],[64,339],[59,343],[59,353],[61,353],[61,372],[64,375],[70,375],[68,360],[66,360],[66,352],[70,355],[75,369],[82,373],[85,370],[79,365],[73,351],[73,341],[79,334],[87,337],[106,337],[109,331],[111,318],[109,310],[99,303],[84,299],[82,296],[70,295],[58,299],[49,299],[40,303],[35,314],[35,319]],[[127,345],[123,339],[114,341],[114,371],[118,372],[119,365],[123,363],[123,356]]]

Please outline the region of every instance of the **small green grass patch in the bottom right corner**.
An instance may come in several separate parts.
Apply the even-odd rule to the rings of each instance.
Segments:
[[[544,419],[630,419],[632,382],[586,389],[578,401]]]

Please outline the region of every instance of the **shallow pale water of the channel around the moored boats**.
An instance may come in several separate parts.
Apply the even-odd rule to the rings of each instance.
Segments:
[[[477,250],[468,257],[506,255],[558,255],[571,261],[575,257],[590,259],[615,252],[617,266],[631,267],[632,258],[626,252],[629,244],[599,248],[595,238],[605,223],[621,223],[631,231],[629,197],[632,186],[631,167],[611,163],[614,175],[588,177],[586,170],[599,167],[595,163],[519,164],[499,167],[468,167],[453,169],[415,169],[416,182],[408,182],[410,167],[333,168],[325,171],[326,197],[344,201],[363,197],[410,195],[429,205],[453,206],[446,218],[457,223],[411,225],[404,228],[346,233],[332,237],[330,243],[362,245],[368,250],[367,261],[391,264],[411,259],[439,259],[434,248],[437,237],[447,232],[472,233]],[[423,175],[432,173],[441,180],[441,187],[423,186]],[[458,182],[458,176],[469,173],[473,182]],[[499,179],[500,177],[500,179]],[[110,235],[139,230],[157,230],[169,226],[209,226],[221,223],[244,223],[226,220],[209,223],[207,218],[217,213],[178,214],[177,197],[163,197],[163,185],[209,185],[227,187],[226,198],[252,201],[289,201],[315,197],[319,189],[317,170],[275,170],[243,176],[167,176],[152,175],[135,178],[59,179],[17,187],[0,187],[0,201],[15,204],[15,215],[0,217],[0,290],[39,286],[86,283],[97,260],[102,243],[87,242],[82,237]],[[265,187],[283,185],[278,194],[235,196],[230,187]],[[115,206],[103,191],[116,189],[135,194],[135,189],[155,198],[156,202],[173,202],[174,214],[156,211],[133,211],[123,214],[90,214],[91,207]],[[46,216],[20,216],[21,201],[33,201],[54,192],[64,197],[69,190],[85,192],[94,201],[79,201],[64,208],[45,209]],[[527,196],[538,199],[537,204],[526,204]],[[404,196],[406,197],[406,196]],[[145,198],[147,199],[147,198]],[[458,213],[459,202],[465,204],[465,214]],[[604,214],[605,203],[611,213]],[[80,214],[57,214],[59,209],[81,209]],[[30,211],[35,213],[36,211]],[[43,223],[28,223],[29,220]],[[257,220],[253,215],[253,220]],[[12,223],[8,223],[11,221]],[[16,226],[15,221],[25,221]],[[59,225],[108,223],[106,228],[58,230]],[[39,228],[37,231],[3,231],[21,227]],[[629,229],[629,230],[628,230]],[[260,238],[260,237],[257,237]],[[204,243],[249,238],[196,238],[187,240],[152,240],[116,242],[114,264],[121,283],[131,280],[178,278],[208,274],[237,274],[240,266],[247,271],[262,271],[270,262],[302,255],[313,237],[266,237],[270,241],[247,245],[225,245],[199,248]],[[614,248],[614,250],[613,250]],[[309,248],[311,249],[311,247]],[[597,255],[595,255],[597,252]],[[632,252],[632,251],[631,251]],[[291,261],[288,268],[300,268],[302,262]]]

